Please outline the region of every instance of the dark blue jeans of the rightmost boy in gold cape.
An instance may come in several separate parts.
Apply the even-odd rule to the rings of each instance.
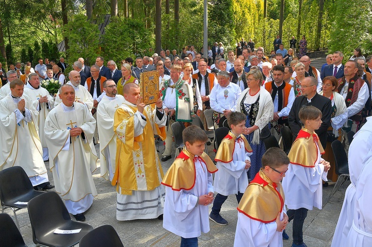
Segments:
[[[308,216],[308,209],[303,207],[299,209],[289,209],[287,210],[287,215],[288,222],[293,220],[293,243],[295,245],[301,245],[304,243],[302,229],[306,216]]]

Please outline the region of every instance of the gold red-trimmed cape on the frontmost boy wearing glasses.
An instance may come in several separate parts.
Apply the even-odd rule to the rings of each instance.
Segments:
[[[276,190],[279,188],[279,192]],[[283,210],[284,191],[280,183],[272,182],[261,170],[247,187],[238,211],[253,220],[270,223]]]

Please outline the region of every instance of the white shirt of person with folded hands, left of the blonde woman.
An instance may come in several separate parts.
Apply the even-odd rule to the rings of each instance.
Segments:
[[[231,110],[241,94],[242,90],[235,83],[230,82],[225,88],[217,84],[209,94],[210,107],[219,113],[223,113],[224,110]]]

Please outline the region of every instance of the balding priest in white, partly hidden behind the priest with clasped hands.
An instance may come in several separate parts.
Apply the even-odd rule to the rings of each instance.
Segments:
[[[76,70],[71,70],[70,73],[68,73],[68,79],[70,79],[70,81],[66,84],[72,86],[72,88],[75,90],[75,102],[85,104],[88,106],[89,111],[92,111],[93,98],[89,94],[88,90],[86,90],[84,86],[80,85],[80,73]],[[57,95],[59,94],[60,92],[57,93]],[[54,107],[56,107],[59,103],[61,103],[61,99],[56,97]]]

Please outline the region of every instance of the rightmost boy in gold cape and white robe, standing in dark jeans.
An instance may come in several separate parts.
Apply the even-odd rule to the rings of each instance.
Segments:
[[[306,247],[303,226],[308,210],[322,207],[322,182],[327,181],[329,162],[320,157],[324,153],[315,130],[319,129],[321,111],[314,106],[303,106],[299,118],[305,125],[292,145],[288,157],[291,161],[282,185],[286,195],[287,215],[293,219],[292,247]]]

